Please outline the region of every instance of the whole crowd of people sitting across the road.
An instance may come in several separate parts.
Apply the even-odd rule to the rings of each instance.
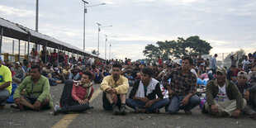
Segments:
[[[216,58],[183,56],[179,63],[172,59],[131,62],[130,59],[100,60],[84,56],[69,58],[45,47],[22,63],[9,64],[0,56],[0,108],[6,102],[21,111],[41,111],[54,107],[50,86],[64,83],[54,114],[92,109],[93,84],[100,84],[102,107],[114,115],[159,113],[170,115],[183,110],[192,114],[199,106],[202,113],[238,117],[242,113],[256,120],[256,52],[231,55],[231,66],[216,66]],[[83,59],[82,59],[83,58]],[[237,63],[238,62],[238,63]],[[128,90],[131,88],[130,93]]]

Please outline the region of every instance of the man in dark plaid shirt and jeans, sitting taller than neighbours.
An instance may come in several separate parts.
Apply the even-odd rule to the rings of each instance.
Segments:
[[[184,57],[182,67],[170,70],[164,77],[165,83],[171,78],[171,84],[166,85],[171,103],[168,113],[174,114],[183,109],[186,114],[192,114],[191,110],[201,103],[201,99],[195,94],[197,90],[197,77],[191,72],[191,57]]]

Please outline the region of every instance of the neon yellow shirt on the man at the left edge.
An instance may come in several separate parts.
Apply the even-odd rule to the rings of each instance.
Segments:
[[[2,84],[6,83],[6,82],[11,82],[10,86],[8,86],[6,88],[11,94],[12,93],[12,73],[11,73],[11,70],[7,66],[1,64],[1,67],[0,67],[0,86],[2,86]]]

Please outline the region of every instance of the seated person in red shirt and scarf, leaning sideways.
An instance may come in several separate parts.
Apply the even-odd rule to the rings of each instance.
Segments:
[[[88,71],[83,72],[81,81],[67,80],[59,100],[60,107],[55,106],[54,115],[68,113],[69,111],[82,112],[90,109],[89,100],[93,91],[92,73]]]

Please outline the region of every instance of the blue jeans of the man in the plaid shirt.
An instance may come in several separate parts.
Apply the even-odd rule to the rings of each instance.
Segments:
[[[168,110],[167,110],[169,114],[174,114],[174,113],[178,112],[179,109],[183,109],[185,111],[190,111],[194,107],[197,107],[197,105],[199,105],[201,103],[200,97],[193,95],[192,97],[190,97],[188,99],[187,106],[182,107],[181,102],[183,101],[184,96],[173,96],[171,98],[172,98],[172,100],[171,100],[171,103],[168,106]]]

